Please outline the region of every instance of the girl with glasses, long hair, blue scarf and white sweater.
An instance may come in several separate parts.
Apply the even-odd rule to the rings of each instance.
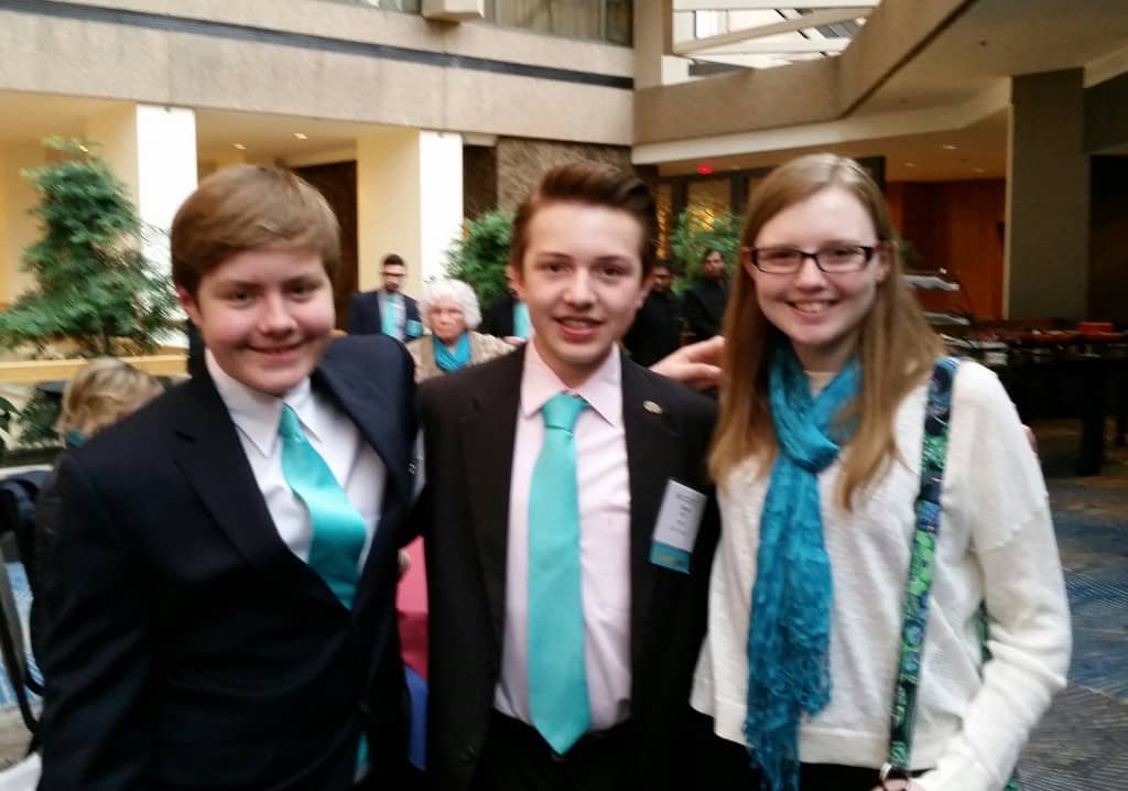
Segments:
[[[1014,405],[989,370],[942,357],[857,162],[777,168],[741,244],[698,785],[1001,791],[1070,649]]]

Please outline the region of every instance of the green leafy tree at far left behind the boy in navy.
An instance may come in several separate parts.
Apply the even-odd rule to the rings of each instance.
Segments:
[[[35,285],[0,314],[0,343],[72,343],[82,357],[152,351],[175,306],[168,279],[142,251],[142,226],[125,185],[91,144],[49,138],[67,155],[25,170],[39,203],[43,238],[24,251]]]

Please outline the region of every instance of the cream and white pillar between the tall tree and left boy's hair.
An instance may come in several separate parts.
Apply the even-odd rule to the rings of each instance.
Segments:
[[[127,105],[87,120],[87,137],[125,182],[144,228],[144,253],[168,272],[173,217],[196,188],[196,116],[180,107]]]

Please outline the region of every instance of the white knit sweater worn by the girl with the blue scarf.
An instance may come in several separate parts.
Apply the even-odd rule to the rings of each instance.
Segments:
[[[926,387],[897,413],[900,460],[855,499],[836,502],[840,465],[819,476],[831,557],[831,701],[800,730],[805,763],[881,766],[919,487]],[[751,462],[720,493],[708,635],[691,703],[743,742],[746,653],[767,476]],[[1031,729],[1065,685],[1068,604],[1038,459],[994,373],[960,366],[952,401],[943,516],[917,698],[913,767],[927,791],[1002,789]],[[993,659],[981,661],[976,614],[986,600]],[[876,783],[874,783],[876,784]]]

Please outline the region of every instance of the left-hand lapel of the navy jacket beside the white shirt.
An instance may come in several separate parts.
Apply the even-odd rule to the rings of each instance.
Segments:
[[[249,565],[280,585],[305,580],[315,596],[340,607],[320,577],[279,535],[235,423],[206,372],[184,385],[183,397],[187,408],[173,427],[176,464],[215,524]]]

